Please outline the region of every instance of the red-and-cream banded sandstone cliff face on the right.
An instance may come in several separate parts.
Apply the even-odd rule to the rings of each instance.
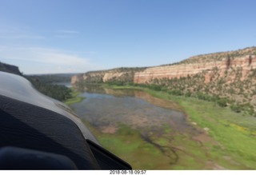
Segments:
[[[182,78],[187,76],[194,76],[195,74],[206,71],[205,83],[210,82],[214,68],[218,68],[220,73],[229,69],[242,68],[242,78],[244,79],[248,71],[256,68],[256,56],[247,55],[242,58],[222,58],[218,61],[212,59],[209,61],[200,60],[194,63],[182,63],[173,66],[156,66],[148,68],[144,71],[134,74],[134,83],[143,84],[150,83],[154,79],[161,78]],[[221,75],[221,76],[222,76]]]

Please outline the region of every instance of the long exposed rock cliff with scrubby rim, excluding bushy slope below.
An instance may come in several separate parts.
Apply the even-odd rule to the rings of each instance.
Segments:
[[[242,69],[241,80],[246,79],[250,70],[256,68],[256,47],[214,54],[202,54],[182,62],[150,68],[119,68],[79,74],[72,78],[76,82],[133,82],[137,84],[154,83],[155,79],[186,78],[204,72],[204,82],[208,83],[218,69],[220,77],[226,71]]]

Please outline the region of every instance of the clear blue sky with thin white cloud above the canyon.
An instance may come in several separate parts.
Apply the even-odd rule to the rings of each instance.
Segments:
[[[0,0],[0,62],[24,74],[158,66],[256,46],[255,0]]]

